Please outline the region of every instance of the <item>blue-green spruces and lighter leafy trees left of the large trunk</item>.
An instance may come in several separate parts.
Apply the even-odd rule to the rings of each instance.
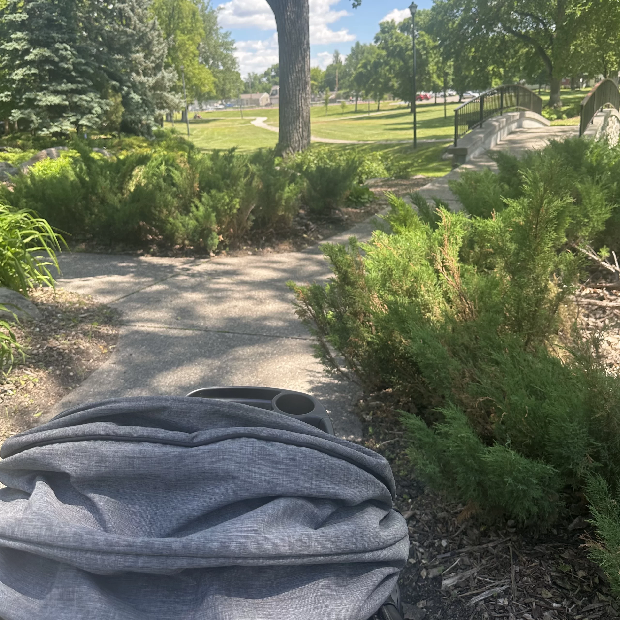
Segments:
[[[209,0],[6,0],[0,120],[30,130],[149,134],[187,97],[242,87],[234,42]]]

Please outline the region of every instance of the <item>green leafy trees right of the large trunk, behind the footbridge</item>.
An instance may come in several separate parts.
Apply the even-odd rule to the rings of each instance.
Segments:
[[[311,69],[311,89],[343,96],[412,99],[411,18],[381,22],[373,43],[355,43],[325,71]],[[417,11],[417,90],[459,95],[498,84],[560,84],[580,77],[618,79],[620,3],[616,0],[435,0]]]

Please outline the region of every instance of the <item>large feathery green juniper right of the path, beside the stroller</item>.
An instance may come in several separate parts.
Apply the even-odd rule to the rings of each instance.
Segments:
[[[605,230],[613,188],[573,180],[562,148],[519,164],[490,217],[391,195],[389,231],[326,244],[327,285],[290,284],[328,371],[419,412],[402,414],[418,475],[520,523],[551,523],[590,472],[613,492],[620,474],[618,378],[565,318],[585,267],[575,246]]]

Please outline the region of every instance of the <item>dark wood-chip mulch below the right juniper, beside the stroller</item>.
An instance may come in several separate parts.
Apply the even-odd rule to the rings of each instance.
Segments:
[[[603,573],[582,545],[587,508],[576,498],[553,529],[485,523],[415,479],[391,392],[360,401],[367,448],[389,461],[410,551],[401,571],[405,619],[594,620],[618,618]]]

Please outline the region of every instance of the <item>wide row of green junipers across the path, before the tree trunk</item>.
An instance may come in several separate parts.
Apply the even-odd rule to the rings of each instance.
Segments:
[[[360,182],[383,170],[380,159],[346,151],[311,149],[286,161],[269,149],[201,153],[170,131],[156,131],[152,140],[74,139],[70,146],[0,187],[0,197],[76,241],[105,246],[214,250],[252,227],[290,225],[302,205],[327,214],[349,195],[365,204],[374,197]]]

